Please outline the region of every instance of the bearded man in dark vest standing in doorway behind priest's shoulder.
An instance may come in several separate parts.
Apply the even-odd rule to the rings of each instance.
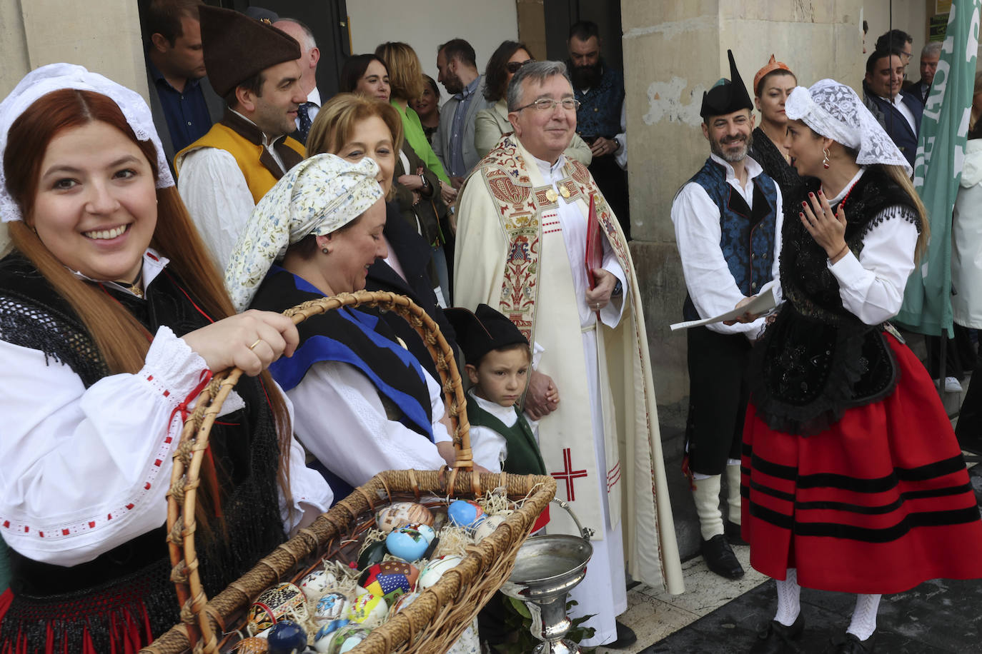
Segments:
[[[567,46],[570,60],[566,65],[579,100],[576,133],[589,143],[593,152],[590,174],[630,240],[624,75],[601,57],[600,27],[596,23],[573,24]]]

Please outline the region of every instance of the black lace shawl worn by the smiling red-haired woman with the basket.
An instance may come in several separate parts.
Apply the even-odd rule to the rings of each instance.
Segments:
[[[148,285],[145,300],[104,288],[151,334],[166,325],[181,336],[207,324],[167,271]],[[86,388],[109,374],[68,302],[17,252],[0,260],[0,339],[43,352],[48,365],[69,366]],[[246,408],[223,416],[209,439],[222,480],[224,519],[212,526],[210,540],[198,528],[200,571],[209,597],[285,537],[279,515],[279,444],[265,391],[256,377],[243,377],[236,391]],[[142,625],[144,612],[154,636],[172,627],[179,607],[169,580],[165,536],[165,528],[154,529],[73,567],[40,563],[10,550],[15,599],[0,624],[0,648],[13,645],[20,632],[29,651],[41,651],[50,627],[59,649],[81,652],[87,631],[96,651],[108,652],[119,621],[136,619]]]

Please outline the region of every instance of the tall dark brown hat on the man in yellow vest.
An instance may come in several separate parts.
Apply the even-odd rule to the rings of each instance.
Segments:
[[[208,81],[223,98],[252,75],[300,59],[297,39],[269,23],[208,5],[201,5],[198,18]]]

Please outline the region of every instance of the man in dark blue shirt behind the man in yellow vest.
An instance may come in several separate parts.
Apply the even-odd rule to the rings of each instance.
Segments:
[[[174,153],[220,120],[225,105],[205,75],[200,0],[153,0],[144,16],[147,86],[153,123],[173,168]]]

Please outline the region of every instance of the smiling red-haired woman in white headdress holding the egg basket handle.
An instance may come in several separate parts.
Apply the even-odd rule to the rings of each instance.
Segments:
[[[235,315],[135,91],[39,68],[0,103],[0,151],[0,650],[134,652],[179,620],[165,495],[210,371],[253,377],[197,490],[208,595],[330,505],[265,372],[297,329]]]

